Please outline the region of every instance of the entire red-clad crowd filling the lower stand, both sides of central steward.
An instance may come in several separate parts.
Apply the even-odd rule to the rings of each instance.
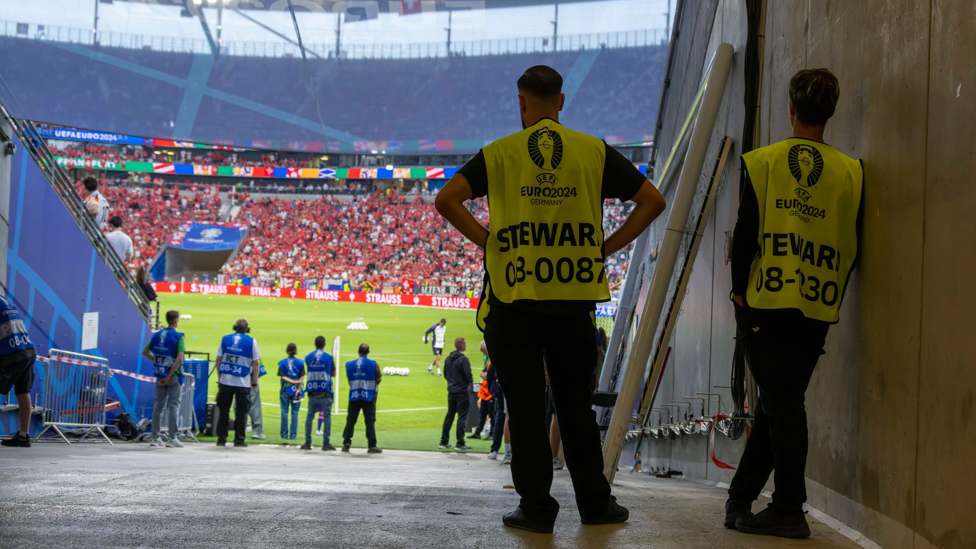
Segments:
[[[136,256],[131,269],[148,267],[183,222],[219,219],[221,198],[214,188],[201,189],[129,183],[100,188],[111,204],[109,215],[121,216],[124,231],[133,238]],[[78,190],[85,194],[80,184]],[[480,250],[448,226],[422,196],[390,191],[289,200],[252,198],[244,191],[237,198],[241,207],[232,221],[248,224],[251,231],[221,271],[231,278],[250,276],[256,285],[341,279],[352,281],[353,287],[368,283],[380,288],[393,282],[474,292],[481,288]],[[487,202],[473,200],[468,207],[487,226]],[[629,205],[607,201],[604,232],[616,231],[629,211]],[[629,254],[625,250],[607,258],[612,286],[623,280]]]

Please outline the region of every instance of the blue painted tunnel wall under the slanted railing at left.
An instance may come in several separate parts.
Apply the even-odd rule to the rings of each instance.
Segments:
[[[150,332],[118,280],[33,160],[18,143],[11,173],[7,287],[27,323],[38,355],[51,348],[81,352],[82,316],[99,312],[99,346],[86,354],[108,359],[115,369],[151,375],[141,359]],[[38,364],[32,394],[43,392],[44,369]],[[108,397],[121,411],[142,417],[152,406],[149,383],[115,375]],[[0,414],[0,435],[16,423]]]

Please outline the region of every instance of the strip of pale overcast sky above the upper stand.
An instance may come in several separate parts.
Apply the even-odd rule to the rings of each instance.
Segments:
[[[0,21],[28,22],[75,28],[92,28],[97,0],[0,0]],[[296,0],[296,4],[301,0]],[[676,3],[674,0],[673,3]],[[472,4],[466,2],[465,4]],[[666,25],[668,0],[602,0],[559,5],[559,35],[619,31],[643,31]],[[204,3],[206,6],[206,2]],[[672,8],[673,9],[673,8]],[[294,37],[291,15],[280,11],[247,11],[267,26]],[[541,37],[552,34],[553,5],[511,9],[453,10],[454,42],[496,38]],[[212,26],[217,9],[204,8]],[[379,20],[344,24],[344,42],[425,43],[446,40],[447,14],[425,13],[401,17],[381,14]],[[298,14],[306,43],[335,43],[335,14]],[[180,17],[180,9],[137,2],[117,1],[99,5],[100,32],[204,38],[200,22]],[[663,34],[662,34],[663,36]],[[251,21],[224,10],[223,39],[226,41],[280,42],[281,38]]]

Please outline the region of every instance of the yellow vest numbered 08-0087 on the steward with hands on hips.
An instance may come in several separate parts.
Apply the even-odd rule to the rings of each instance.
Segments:
[[[603,142],[549,118],[482,149],[491,292],[516,300],[610,299],[603,270]],[[487,292],[486,292],[487,293]]]

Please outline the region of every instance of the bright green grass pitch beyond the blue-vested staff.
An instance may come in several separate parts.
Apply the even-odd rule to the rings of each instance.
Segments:
[[[264,443],[305,443],[305,402],[299,415],[298,439],[284,441],[280,438],[281,408],[278,403],[280,390],[277,362],[287,357],[285,347],[295,343],[299,357],[314,350],[313,340],[321,335],[326,338],[326,351],[331,352],[336,336],[340,336],[338,360],[340,414],[332,416],[331,443],[342,444],[346,426],[346,371],[347,360],[354,359],[360,343],[370,346],[370,358],[381,367],[408,367],[408,376],[383,376],[377,401],[377,442],[380,447],[411,450],[437,450],[440,429],[447,410],[447,384],[443,377],[431,376],[427,366],[433,359],[430,344],[422,337],[430,324],[447,318],[446,348],[444,359],[453,351],[456,337],[468,339],[466,355],[471,361],[472,374],[478,379],[483,363],[478,351],[481,332],[474,325],[472,311],[446,311],[414,307],[384,306],[364,303],[335,303],[287,298],[242,297],[230,295],[160,294],[160,311],[176,309],[192,319],[180,320],[180,331],[186,334],[187,351],[203,351],[216,357],[221,338],[231,333],[234,320],[245,317],[251,324],[251,335],[258,341],[267,375],[261,378],[261,400],[264,402]],[[367,331],[347,330],[350,322],[361,321],[369,326]],[[217,373],[210,378],[210,399],[217,395]],[[232,413],[232,412],[231,412]],[[468,432],[476,425],[478,412],[468,411]],[[317,420],[312,425],[313,444],[321,445],[322,438],[314,436]],[[231,425],[232,428],[232,425]],[[452,428],[451,444],[455,443]],[[250,439],[248,442],[256,443]],[[204,439],[214,440],[214,439]],[[487,452],[489,443],[471,441],[475,451]],[[360,416],[356,425],[352,447],[366,447],[366,430]],[[317,451],[317,448],[316,448]]]

